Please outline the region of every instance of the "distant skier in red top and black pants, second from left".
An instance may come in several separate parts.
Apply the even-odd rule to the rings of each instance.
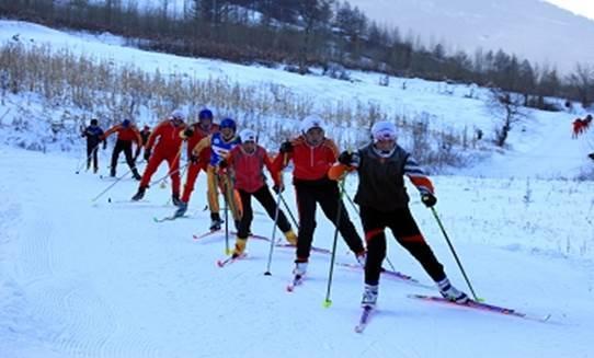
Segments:
[[[114,151],[112,152],[112,166],[110,171],[110,176],[115,176],[119,153],[124,151],[124,155],[126,155],[126,162],[130,168],[134,178],[139,181],[140,174],[138,174],[138,170],[136,169],[136,163],[134,160],[134,158],[137,158],[140,153],[140,147],[142,143],[142,139],[140,138],[140,132],[138,131],[138,128],[136,128],[136,126],[129,119],[124,119],[121,124],[110,128],[101,137],[101,139],[105,140],[114,132],[117,134],[117,140],[114,146]],[[134,142],[136,143],[136,154],[133,158],[132,146]]]

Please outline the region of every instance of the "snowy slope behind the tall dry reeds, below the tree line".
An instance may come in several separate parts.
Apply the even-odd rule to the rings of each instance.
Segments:
[[[16,41],[15,41],[16,38]],[[389,86],[378,85],[380,74],[353,72],[354,83],[321,76],[298,76],[276,69],[248,67],[218,60],[185,58],[122,47],[124,39],[110,36],[92,36],[65,33],[45,26],[15,21],[0,21],[0,43],[19,42],[26,46],[50,46],[54,50],[68,49],[93,58],[110,59],[114,66],[134,65],[147,72],[157,69],[163,74],[176,73],[197,79],[228,78],[242,85],[274,83],[290,89],[295,94],[309,97],[315,109],[335,107],[339,103],[353,106],[378,104],[388,114],[409,119],[425,118],[433,129],[461,131],[467,128],[471,136],[482,129],[486,138],[492,138],[496,119],[486,107],[487,91],[468,85],[452,85],[420,79],[391,78]],[[473,97],[467,97],[473,93]],[[31,100],[30,100],[31,101]],[[21,99],[8,97],[0,104],[0,114],[21,105]],[[27,101],[28,102],[28,101]],[[43,111],[46,111],[45,107]],[[10,123],[12,111],[3,123]],[[583,115],[583,113],[578,113]],[[540,176],[575,177],[591,168],[586,154],[594,145],[584,138],[571,139],[571,122],[576,114],[529,111],[529,118],[517,125],[510,134],[511,152],[494,155],[464,173],[480,176]],[[137,118],[150,123],[150,118]],[[584,136],[585,137],[585,136]],[[271,148],[276,150],[276,148]],[[536,157],[535,157],[536,155]],[[548,159],[553,158],[551,164]],[[529,164],[529,165],[528,165]]]

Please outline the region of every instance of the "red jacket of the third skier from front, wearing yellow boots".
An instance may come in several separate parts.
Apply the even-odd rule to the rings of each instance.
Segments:
[[[247,193],[258,192],[264,182],[264,165],[272,175],[275,185],[278,185],[278,171],[275,171],[272,165],[266,150],[256,146],[253,153],[247,153],[243,147],[237,146],[227,155],[229,168],[235,172],[235,188]]]

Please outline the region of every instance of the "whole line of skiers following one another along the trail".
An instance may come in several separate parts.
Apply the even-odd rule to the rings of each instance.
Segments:
[[[443,297],[459,303],[467,302],[468,296],[456,289],[448,280],[443,265],[421,234],[409,209],[409,196],[404,187],[404,176],[421,193],[422,203],[433,207],[437,199],[430,178],[414,159],[397,143],[397,128],[392,123],[378,122],[372,127],[370,142],[355,151],[340,152],[334,141],[325,136],[324,124],[319,116],[308,116],[300,123],[298,136],[284,141],[275,158],[258,145],[256,134],[249,128],[238,132],[231,118],[224,118],[217,125],[213,112],[199,112],[198,120],[186,125],[181,111],[174,111],[158,124],[144,139],[138,129],[124,120],[103,131],[96,120],[84,129],[83,136],[90,148],[89,162],[93,153],[96,172],[96,148],[113,132],[117,132],[116,149],[112,155],[111,174],[115,176],[117,154],[124,151],[134,176],[140,180],[133,200],[144,198],[150,178],[162,161],[169,164],[172,182],[172,200],[178,207],[173,217],[185,215],[201,171],[207,175],[207,196],[210,209],[210,230],[220,230],[222,220],[218,195],[222,193],[229,208],[237,238],[232,258],[244,254],[250,226],[253,220],[252,197],[265,209],[271,219],[284,233],[289,244],[296,246],[296,277],[307,273],[316,229],[316,209],[319,204],[325,217],[335,229],[357,262],[365,268],[365,286],[362,299],[364,308],[374,308],[378,296],[381,265],[386,257],[385,230],[389,228],[397,242],[422,265],[436,282]],[[148,128],[145,128],[148,130]],[[183,193],[180,196],[180,157],[183,142],[187,145],[189,163]],[[136,143],[136,154],[132,157],[132,146]],[[140,148],[148,164],[140,176],[135,159]],[[115,158],[115,161],[114,161]],[[285,212],[278,208],[281,195],[285,189],[283,170],[293,162],[293,185],[295,187],[299,222],[297,233],[293,230]],[[265,181],[263,169],[270,172],[275,200]],[[357,233],[342,200],[343,181],[347,173],[358,174],[358,187],[354,201],[359,206],[359,216],[365,242]]]

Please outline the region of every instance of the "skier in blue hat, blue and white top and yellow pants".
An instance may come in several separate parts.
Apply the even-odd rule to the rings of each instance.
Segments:
[[[210,159],[206,169],[208,208],[210,209],[210,230],[220,230],[222,220],[220,219],[220,207],[218,203],[218,187],[220,186],[227,205],[231,209],[236,226],[241,218],[239,200],[235,197],[232,180],[224,169],[219,168],[220,161],[239,143],[241,140],[237,136],[237,125],[231,118],[225,118],[219,124],[219,131],[203,138],[192,150],[191,161],[197,163],[202,158],[204,150],[210,149]]]

